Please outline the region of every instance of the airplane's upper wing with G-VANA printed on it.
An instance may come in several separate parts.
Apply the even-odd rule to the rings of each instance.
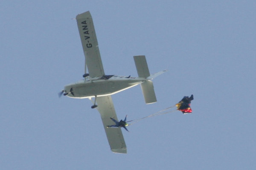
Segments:
[[[85,73],[87,66],[90,77],[102,77],[105,73],[90,11],[77,15],[76,21],[84,50],[86,63],[86,65],[84,65]]]

